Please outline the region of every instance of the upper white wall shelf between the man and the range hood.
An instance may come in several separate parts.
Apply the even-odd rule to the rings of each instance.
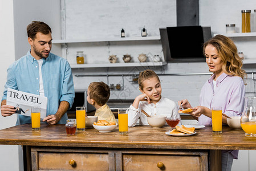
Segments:
[[[86,42],[117,42],[117,41],[138,41],[138,40],[160,40],[160,36],[145,36],[131,38],[95,38],[95,39],[66,39],[52,40],[52,43],[86,43]]]

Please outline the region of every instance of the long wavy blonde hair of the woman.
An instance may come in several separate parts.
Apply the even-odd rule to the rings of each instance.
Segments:
[[[237,47],[234,42],[224,35],[216,35],[204,43],[205,48],[211,44],[218,51],[221,61],[224,63],[222,70],[228,75],[239,76],[242,79],[247,76],[245,70],[242,70],[242,59],[238,56]]]

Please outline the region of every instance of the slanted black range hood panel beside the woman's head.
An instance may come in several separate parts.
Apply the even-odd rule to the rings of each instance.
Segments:
[[[160,28],[165,59],[204,59],[203,45],[212,37],[210,27],[181,26]]]

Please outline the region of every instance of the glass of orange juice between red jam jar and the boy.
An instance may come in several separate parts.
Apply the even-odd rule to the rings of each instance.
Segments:
[[[76,107],[76,128],[78,131],[86,130],[86,107]]]

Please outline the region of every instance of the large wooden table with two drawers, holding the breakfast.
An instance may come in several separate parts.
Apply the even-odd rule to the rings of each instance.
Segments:
[[[63,124],[43,124],[40,131],[25,124],[0,130],[0,144],[25,146],[32,170],[221,170],[221,150],[256,149],[256,138],[242,129],[223,127],[216,136],[205,127],[174,137],[165,135],[169,128],[136,126],[127,136],[117,128],[91,128],[66,135]]]

